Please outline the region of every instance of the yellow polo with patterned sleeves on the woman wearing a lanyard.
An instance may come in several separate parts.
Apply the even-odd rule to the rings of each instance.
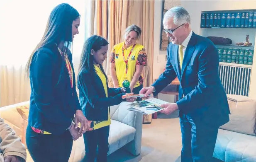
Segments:
[[[116,44],[112,48],[111,52],[111,58],[110,63],[115,63],[116,68],[116,75],[119,87],[122,87],[122,82],[124,80],[132,81],[132,77],[136,70],[136,65],[144,65],[146,66],[147,56],[146,56],[146,50],[144,46],[140,44],[136,44],[134,46],[134,49],[132,50],[133,46],[128,47],[127,49],[124,48],[124,58],[122,53],[122,47],[124,46],[124,42]],[[126,63],[124,62],[124,59],[127,60],[127,57],[129,56],[130,51],[132,50],[132,53],[128,60],[128,68],[127,68],[127,74],[126,72]],[[143,76],[141,75],[139,77],[139,80],[134,85],[135,87],[139,87],[139,85],[142,85],[144,81]]]

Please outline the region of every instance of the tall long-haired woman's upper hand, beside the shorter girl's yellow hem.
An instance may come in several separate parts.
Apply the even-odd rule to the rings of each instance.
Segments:
[[[78,123],[81,124],[78,134],[85,133],[86,131],[89,130],[91,121],[88,121],[87,118],[85,118],[85,116],[83,115],[83,111],[81,110],[76,111],[74,121],[75,121],[75,128],[78,128]]]

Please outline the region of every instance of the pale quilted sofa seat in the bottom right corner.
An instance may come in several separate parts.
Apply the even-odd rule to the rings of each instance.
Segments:
[[[224,162],[256,162],[256,136],[219,129],[213,156]]]

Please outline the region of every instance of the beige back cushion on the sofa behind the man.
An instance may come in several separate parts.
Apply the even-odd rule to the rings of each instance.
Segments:
[[[227,94],[230,115],[229,122],[219,128],[256,135],[256,101],[246,96]]]

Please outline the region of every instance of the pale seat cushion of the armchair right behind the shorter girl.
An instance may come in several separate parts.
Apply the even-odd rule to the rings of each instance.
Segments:
[[[111,120],[110,135],[108,141],[110,143],[109,152],[111,154],[123,147],[134,139],[135,128],[119,121]]]

